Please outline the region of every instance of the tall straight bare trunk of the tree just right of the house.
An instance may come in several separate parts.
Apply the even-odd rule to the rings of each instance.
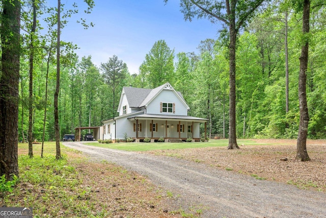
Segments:
[[[235,43],[236,43],[236,30],[235,30],[235,3],[231,1],[231,15],[230,16],[230,45],[229,45],[229,57],[230,57],[230,105],[229,105],[229,146],[228,149],[239,149],[236,142],[236,120],[235,120]],[[234,4],[234,5],[233,5]]]

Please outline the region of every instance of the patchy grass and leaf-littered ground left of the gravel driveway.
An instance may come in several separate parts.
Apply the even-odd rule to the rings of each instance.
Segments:
[[[18,144],[19,180],[12,192],[0,193],[0,205],[32,207],[34,217],[164,217],[168,197],[146,177],[125,168],[89,162],[72,149],[61,146],[63,158],[56,160],[55,142],[33,146]],[[171,192],[171,195],[173,193]],[[132,206],[137,205],[137,207]],[[194,212],[197,213],[197,212]],[[134,216],[141,214],[141,216]]]

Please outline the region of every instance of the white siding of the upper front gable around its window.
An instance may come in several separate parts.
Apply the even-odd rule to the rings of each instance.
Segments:
[[[153,99],[147,106],[146,113],[148,114],[170,114],[170,115],[187,115],[187,107],[178,98],[173,90],[162,90],[155,99]],[[175,113],[162,112],[160,113],[160,103],[175,103]]]

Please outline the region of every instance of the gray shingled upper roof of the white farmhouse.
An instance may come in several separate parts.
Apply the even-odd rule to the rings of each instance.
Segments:
[[[149,101],[151,101],[154,96],[164,88],[166,84],[158,86],[154,89],[147,88],[134,88],[134,87],[123,87],[125,92],[129,107],[131,108],[140,108],[145,106]],[[184,101],[181,92],[177,92],[181,99]],[[185,101],[184,101],[185,102]]]

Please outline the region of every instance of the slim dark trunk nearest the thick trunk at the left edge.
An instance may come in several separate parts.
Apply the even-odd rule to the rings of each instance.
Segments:
[[[33,71],[34,71],[34,34],[36,31],[36,6],[32,0],[33,25],[31,30],[31,53],[30,53],[30,95],[29,95],[29,156],[33,158]]]

